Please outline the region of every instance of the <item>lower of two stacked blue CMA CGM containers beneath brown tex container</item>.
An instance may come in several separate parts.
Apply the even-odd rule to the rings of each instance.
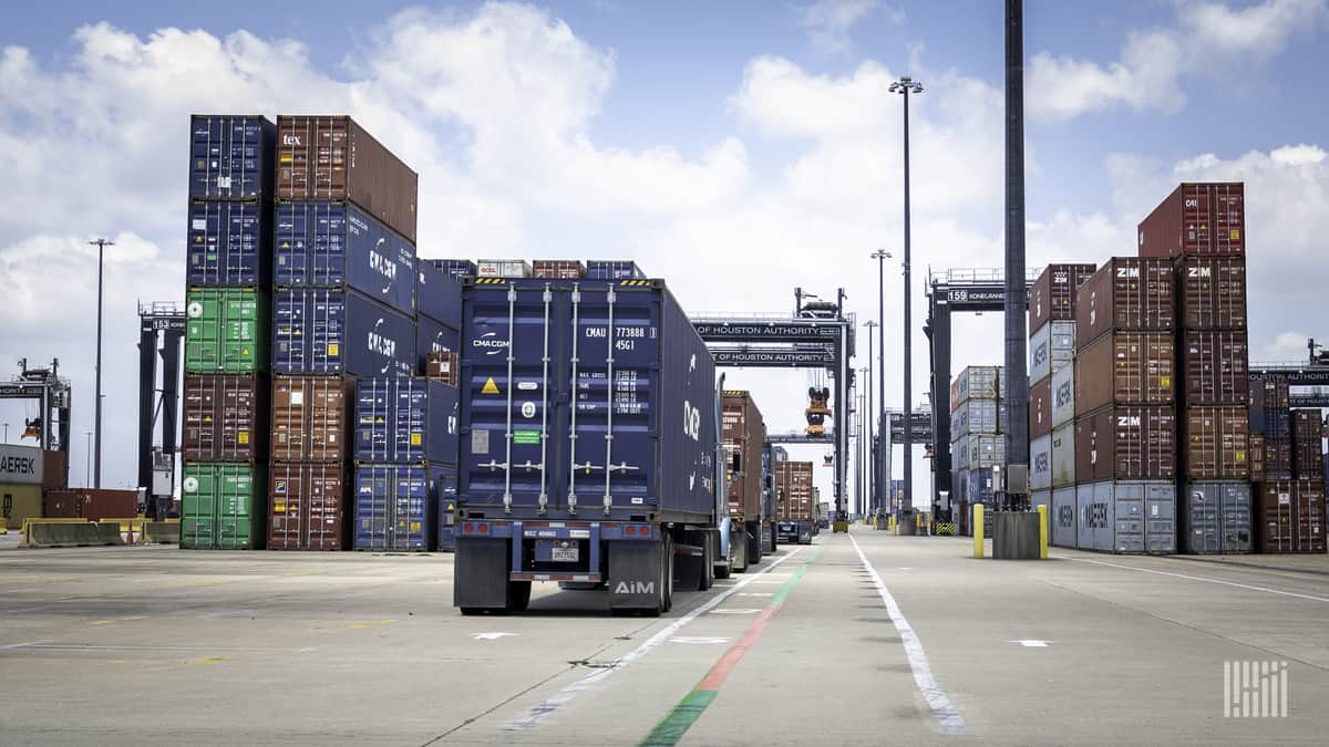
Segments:
[[[355,291],[279,290],[272,299],[272,371],[409,376],[415,320]]]

